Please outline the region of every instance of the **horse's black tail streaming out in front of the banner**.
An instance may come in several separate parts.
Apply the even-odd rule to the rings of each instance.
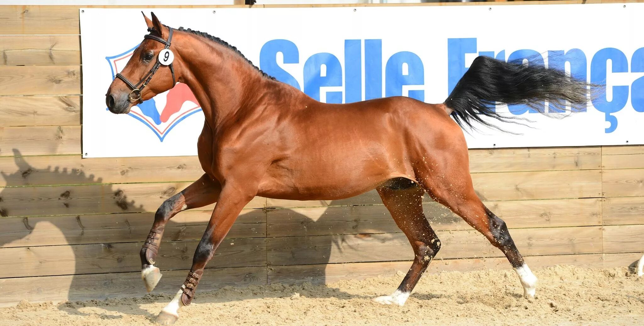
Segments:
[[[461,127],[473,128],[473,122],[479,122],[500,130],[481,115],[502,122],[517,117],[496,113],[496,104],[525,104],[545,114],[539,102],[545,100],[551,108],[565,109],[568,101],[571,108],[580,109],[587,107],[589,85],[562,70],[525,65],[522,60],[505,62],[480,56],[474,59],[444,104],[453,110],[451,116]]]

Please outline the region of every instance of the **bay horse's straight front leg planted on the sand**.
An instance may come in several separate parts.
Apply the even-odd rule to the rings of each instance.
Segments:
[[[210,218],[196,251],[194,251],[193,266],[175,298],[156,317],[157,323],[162,325],[174,323],[179,318],[179,310],[190,304],[197,284],[204,274],[205,265],[213,258],[214,251],[231,230],[232,223],[242,212],[242,208],[251,201],[256,193],[256,189],[249,190],[248,187],[244,188],[238,183],[227,182],[223,186],[220,199],[214,206],[213,216]]]

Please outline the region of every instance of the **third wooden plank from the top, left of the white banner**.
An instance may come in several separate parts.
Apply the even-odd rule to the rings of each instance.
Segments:
[[[80,66],[0,66],[0,95],[81,94]]]

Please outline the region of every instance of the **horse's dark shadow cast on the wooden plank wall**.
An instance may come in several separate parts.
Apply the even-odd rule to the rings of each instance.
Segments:
[[[103,184],[102,178],[86,175],[82,168],[33,167],[29,163],[30,158],[21,156],[15,149],[13,159],[14,171],[0,171],[5,183],[4,188],[0,188],[0,256],[15,258],[8,260],[0,271],[0,278],[47,276],[51,279],[46,282],[43,278],[35,280],[32,287],[27,288],[23,282],[21,287],[14,287],[16,290],[6,295],[17,298],[16,302],[24,297],[24,293],[32,301],[43,300],[39,299],[38,293],[66,293],[71,302],[144,296],[146,291],[140,280],[138,252],[153,222],[153,212],[178,189],[157,190],[153,195],[158,198],[158,203],[137,204],[136,197],[140,194],[128,194],[128,190],[118,188],[121,185]],[[370,196],[374,204],[382,204],[377,195],[375,198],[374,194]],[[331,201],[323,205],[328,206],[272,206],[243,212],[237,220],[241,224],[234,226],[237,231],[231,230],[207,266],[208,269],[240,267],[240,274],[228,274],[226,280],[221,281],[216,273],[206,273],[199,292],[218,289],[222,285],[263,284],[265,278],[262,275],[247,273],[252,267],[241,267],[248,265],[248,259],[252,259],[249,257],[261,255],[264,255],[263,260],[258,258],[258,263],[250,266],[265,266],[265,257],[269,257],[271,283],[326,284],[326,264],[368,261],[369,255],[386,246],[382,243],[386,241],[386,235],[371,239],[372,236],[366,233],[399,232],[388,213],[378,221],[360,221],[360,217],[348,219],[355,215],[352,211],[357,208],[338,206],[346,205],[346,201]],[[316,212],[303,212],[306,210]],[[272,222],[264,228],[265,220],[261,214],[276,217],[269,219]],[[164,277],[152,294],[176,292],[185,278],[185,270],[191,266],[194,248],[210,215],[211,210],[186,211],[168,222],[157,258]],[[316,219],[310,217],[314,215],[317,215]],[[341,222],[352,224],[345,230],[355,229],[361,223],[363,226],[369,224],[366,229],[359,228],[368,229],[368,232],[342,234],[351,231],[338,231],[337,225]],[[254,235],[251,234],[253,232]],[[231,236],[239,233],[244,233],[247,238],[229,241]],[[258,246],[263,241],[267,251]],[[359,244],[365,241],[373,242],[373,246],[368,246],[372,249]],[[234,242],[242,246],[228,246]],[[352,251],[353,256],[346,256],[346,251]],[[222,257],[218,259],[218,255]],[[339,258],[333,260],[332,256]],[[52,291],[52,286],[56,291]],[[329,290],[312,295],[343,296],[339,291]],[[253,297],[264,295],[278,294],[259,293]],[[165,302],[167,298],[162,296],[158,300]],[[205,300],[218,302],[220,299],[207,296]],[[147,314],[146,311],[140,313]]]

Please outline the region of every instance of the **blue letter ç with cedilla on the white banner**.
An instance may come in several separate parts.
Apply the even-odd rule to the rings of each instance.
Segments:
[[[611,116],[611,113],[616,113],[623,109],[624,105],[629,98],[629,86],[613,86],[612,87],[612,100],[609,102],[606,98],[606,62],[611,60],[613,73],[625,73],[629,71],[629,62],[624,53],[616,48],[603,48],[591,60],[591,83],[599,85],[603,96],[598,96],[592,99],[592,105],[599,111],[606,114],[606,121],[611,123],[611,126],[605,129],[606,133],[615,131],[617,128],[617,118]]]

